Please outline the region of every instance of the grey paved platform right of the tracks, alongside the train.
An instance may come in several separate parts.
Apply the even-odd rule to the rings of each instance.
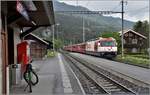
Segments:
[[[132,82],[133,79],[135,79],[137,81],[143,82],[144,84],[150,85],[150,69],[124,64],[120,62],[115,62],[108,59],[103,59],[103,58],[80,54],[80,53],[70,53],[70,54],[79,57],[83,60],[86,60],[87,62],[92,63],[100,68],[105,68],[111,73],[118,74],[119,76],[122,75],[121,77],[126,78]]]

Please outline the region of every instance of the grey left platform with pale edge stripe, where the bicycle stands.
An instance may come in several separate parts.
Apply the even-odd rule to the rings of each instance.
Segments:
[[[33,92],[24,91],[27,83],[22,81],[11,88],[10,95],[83,95],[79,80],[60,53],[52,58],[34,61],[32,65],[39,76],[39,83],[32,87]]]

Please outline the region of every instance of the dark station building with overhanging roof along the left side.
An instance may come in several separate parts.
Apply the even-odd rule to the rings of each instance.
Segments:
[[[19,84],[17,44],[39,27],[53,26],[52,1],[1,1],[0,18],[0,94],[9,94]],[[25,27],[29,29],[23,31]]]

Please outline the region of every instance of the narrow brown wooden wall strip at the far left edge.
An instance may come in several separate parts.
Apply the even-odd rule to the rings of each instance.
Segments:
[[[2,16],[3,18],[1,18],[1,19],[4,19],[4,16]],[[6,16],[5,16],[6,17]],[[6,18],[5,18],[5,20],[6,20]],[[7,92],[9,92],[9,91],[7,91],[7,84],[8,84],[8,82],[7,82],[7,71],[6,71],[6,68],[7,68],[7,66],[8,66],[8,56],[7,56],[7,29],[5,29],[5,27],[6,27],[6,25],[5,25],[5,23],[4,23],[5,21],[3,20],[3,22],[1,22],[2,23],[2,28],[1,28],[1,31],[0,31],[0,35],[1,35],[1,39],[0,39],[0,43],[1,43],[1,53],[0,53],[0,55],[1,55],[1,63],[0,63],[0,65],[1,65],[1,71],[0,71],[0,73],[1,73],[1,77],[2,77],[2,81],[1,81],[1,84],[0,85],[2,85],[1,86],[1,88],[2,88],[2,93],[7,93]]]

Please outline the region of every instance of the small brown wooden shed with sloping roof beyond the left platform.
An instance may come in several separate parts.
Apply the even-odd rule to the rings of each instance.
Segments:
[[[30,33],[24,37],[30,40],[30,54],[32,59],[42,59],[47,54],[49,43],[42,38]]]

